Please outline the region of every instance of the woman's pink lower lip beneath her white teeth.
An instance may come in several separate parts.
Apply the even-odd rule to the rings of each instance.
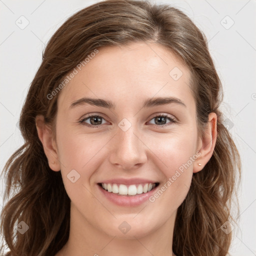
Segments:
[[[106,191],[101,185],[98,185],[101,193],[111,202],[120,205],[120,206],[137,206],[142,204],[143,202],[149,200],[148,198],[155,192],[156,187],[151,189],[149,192],[136,194],[136,195],[118,195],[117,193],[112,193]]]

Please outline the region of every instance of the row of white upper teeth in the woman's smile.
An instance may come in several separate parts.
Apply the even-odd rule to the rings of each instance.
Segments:
[[[116,184],[116,183],[113,183],[113,184],[101,183],[101,186],[108,192],[135,195],[135,194],[142,194],[150,191],[155,187],[155,183],[144,183],[144,184],[136,184],[136,185],[132,184],[129,186],[126,186],[124,184]]]

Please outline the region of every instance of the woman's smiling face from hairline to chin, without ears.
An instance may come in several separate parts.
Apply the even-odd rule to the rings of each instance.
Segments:
[[[189,79],[171,51],[141,42],[99,48],[65,85],[57,101],[56,145],[73,214],[118,237],[143,236],[174,220],[198,156]],[[158,97],[172,100],[143,106]],[[116,183],[120,193],[133,193],[135,185],[139,194],[118,195],[110,192],[113,185],[108,192],[104,182]],[[158,185],[140,193],[139,184],[146,191],[150,182]]]

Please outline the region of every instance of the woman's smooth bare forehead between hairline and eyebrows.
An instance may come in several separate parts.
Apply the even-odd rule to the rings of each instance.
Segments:
[[[119,104],[128,100],[141,103],[154,95],[192,99],[188,67],[169,49],[155,43],[101,47],[77,71],[58,95],[58,106],[64,110],[83,96],[111,98]]]

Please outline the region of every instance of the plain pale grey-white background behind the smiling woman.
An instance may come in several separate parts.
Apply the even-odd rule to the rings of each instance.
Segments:
[[[46,42],[66,18],[95,2],[0,0],[0,170],[23,143],[16,124]],[[208,39],[224,90],[222,110],[242,160],[240,221],[230,253],[256,255],[256,1],[154,2],[166,2],[183,10]],[[28,25],[22,27],[26,22]],[[1,197],[3,184],[0,180]]]

